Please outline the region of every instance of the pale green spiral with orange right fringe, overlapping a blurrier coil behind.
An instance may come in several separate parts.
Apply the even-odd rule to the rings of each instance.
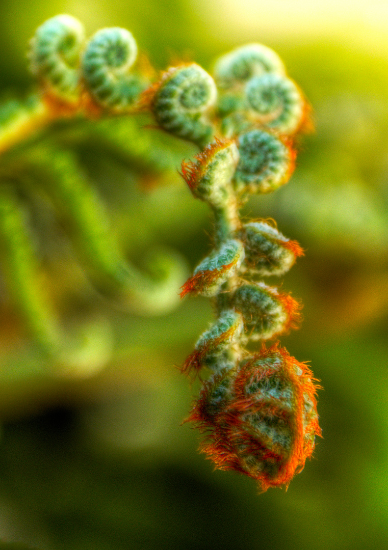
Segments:
[[[294,133],[302,123],[305,102],[298,86],[285,76],[255,76],[245,86],[250,118],[280,134]]]

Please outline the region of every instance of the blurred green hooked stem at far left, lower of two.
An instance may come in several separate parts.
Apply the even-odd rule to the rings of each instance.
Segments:
[[[110,328],[105,321],[95,320],[81,327],[78,334],[68,336],[59,326],[41,284],[28,212],[8,182],[0,186],[0,241],[7,257],[4,270],[13,298],[36,342],[55,358],[56,366],[94,371],[104,365],[111,348]]]

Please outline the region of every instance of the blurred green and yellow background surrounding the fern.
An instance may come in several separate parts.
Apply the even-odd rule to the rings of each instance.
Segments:
[[[140,317],[89,287],[80,300],[81,264],[62,237],[45,244],[43,224],[42,261],[57,307],[92,303],[112,324],[115,348],[99,372],[56,373],[0,283],[3,547],[385,549],[388,3],[2,0],[4,97],[30,89],[26,43],[58,13],[81,19],[88,34],[127,27],[158,69],[177,58],[209,69],[232,47],[263,42],[305,91],[316,133],[303,139],[289,184],[254,197],[246,213],[275,218],[306,249],[283,283],[303,300],[304,322],[282,343],[321,380],[324,438],[287,492],[258,494],[252,480],[212,471],[197,452],[199,434],[180,425],[198,388],[174,367],[211,321],[209,301],[185,299],[166,315]],[[178,158],[193,150],[163,139],[172,151],[167,175],[150,177],[130,155],[124,162],[87,144],[84,167],[128,254],[168,245],[193,268],[209,250],[210,216],[177,173]]]

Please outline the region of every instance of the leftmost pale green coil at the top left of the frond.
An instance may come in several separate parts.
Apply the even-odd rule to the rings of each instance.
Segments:
[[[30,42],[31,71],[45,91],[73,102],[79,97],[79,56],[84,27],[70,15],[57,15],[36,30]]]

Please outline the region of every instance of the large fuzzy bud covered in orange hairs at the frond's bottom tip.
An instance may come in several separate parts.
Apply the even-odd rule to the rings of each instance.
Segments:
[[[320,435],[309,368],[277,345],[204,384],[188,418],[221,470],[254,478],[262,491],[288,486]]]

